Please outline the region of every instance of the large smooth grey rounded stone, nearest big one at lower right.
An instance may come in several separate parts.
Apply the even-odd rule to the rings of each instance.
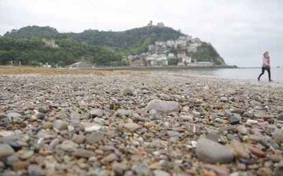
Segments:
[[[199,160],[208,163],[229,163],[232,162],[234,157],[230,149],[206,138],[198,140],[196,154]]]

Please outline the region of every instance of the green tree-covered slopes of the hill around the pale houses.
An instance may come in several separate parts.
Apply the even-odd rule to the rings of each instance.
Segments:
[[[81,33],[59,33],[53,27],[28,26],[13,29],[0,38],[0,64],[9,64],[12,60],[27,65],[49,62],[66,66],[83,58],[98,66],[107,66],[113,61],[126,65],[126,62],[122,62],[122,55],[139,55],[147,52],[148,45],[154,45],[157,40],[176,40],[181,35],[184,34],[170,27],[156,26],[124,32],[88,29]],[[42,39],[53,40],[55,45],[46,46]],[[225,64],[224,60],[219,62],[220,56],[215,53],[217,51],[213,46],[208,45],[208,49],[198,49],[192,57],[198,61]]]

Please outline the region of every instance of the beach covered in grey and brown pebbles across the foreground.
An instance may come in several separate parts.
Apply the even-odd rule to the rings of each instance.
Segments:
[[[283,175],[283,86],[0,75],[0,175]]]

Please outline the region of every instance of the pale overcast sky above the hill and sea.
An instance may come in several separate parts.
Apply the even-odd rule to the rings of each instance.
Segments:
[[[0,0],[0,35],[27,25],[124,31],[152,21],[210,42],[227,64],[283,66],[282,0]]]

